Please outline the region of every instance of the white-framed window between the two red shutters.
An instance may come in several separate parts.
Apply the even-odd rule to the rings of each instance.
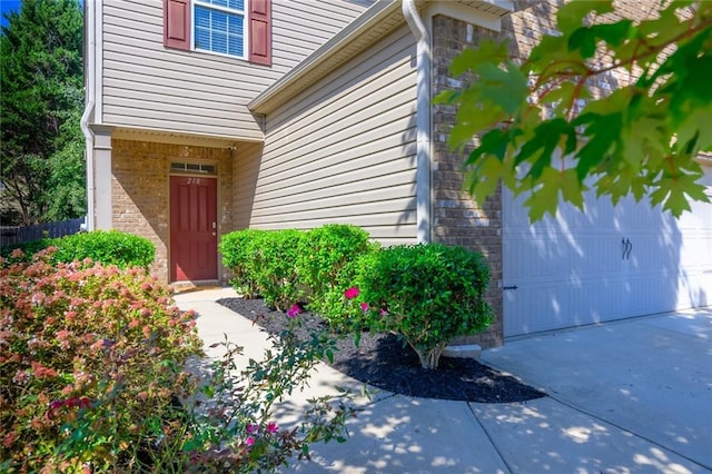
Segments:
[[[245,1],[194,0],[194,48],[245,58]]]

